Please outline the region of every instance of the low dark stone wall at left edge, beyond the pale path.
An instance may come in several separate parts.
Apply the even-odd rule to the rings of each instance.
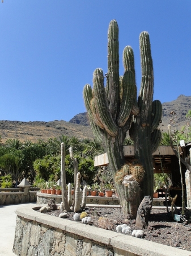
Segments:
[[[0,205],[23,204],[36,202],[36,191],[24,192],[0,192]]]

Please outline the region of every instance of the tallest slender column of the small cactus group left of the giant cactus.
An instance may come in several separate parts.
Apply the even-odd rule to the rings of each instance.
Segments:
[[[65,144],[61,143],[61,174],[62,174],[62,202],[63,207],[67,212],[70,212],[70,206],[67,201],[67,189],[66,189],[66,169],[65,169]]]

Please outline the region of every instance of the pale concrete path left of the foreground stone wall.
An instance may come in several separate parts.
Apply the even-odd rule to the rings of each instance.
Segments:
[[[28,204],[35,205],[36,203]],[[0,205],[0,256],[16,255],[12,253],[16,226],[15,210],[22,205],[26,204]]]

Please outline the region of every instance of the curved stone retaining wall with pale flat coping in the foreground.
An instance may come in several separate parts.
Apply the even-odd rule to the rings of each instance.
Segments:
[[[190,256],[190,251],[50,216],[16,210],[13,251],[23,256]]]

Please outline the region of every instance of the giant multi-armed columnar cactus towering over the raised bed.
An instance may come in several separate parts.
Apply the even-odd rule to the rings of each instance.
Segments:
[[[134,55],[133,49],[130,46],[125,47],[123,53],[124,76],[119,76],[118,25],[116,20],[111,21],[108,30],[108,73],[106,74],[106,88],[104,88],[103,71],[97,68],[94,71],[93,89],[89,84],[86,84],[84,86],[83,96],[92,131],[97,139],[104,141],[113,176],[124,166],[122,144],[126,136],[126,131],[131,127],[131,136],[135,141],[135,156],[141,161],[146,172],[144,176],[145,184],[143,194],[152,196],[153,174],[151,174],[151,148],[154,150],[160,139],[160,132],[155,130],[161,118],[162,108],[159,101],[155,101],[152,104],[153,70],[147,32],[141,34],[140,44],[143,75],[138,104]],[[132,120],[133,125],[131,125]],[[137,131],[134,131],[134,129],[137,129]],[[139,130],[143,130],[143,133]],[[139,135],[142,136],[140,144]],[[148,137],[150,139],[147,139]],[[143,151],[144,153],[140,153],[139,151]],[[148,155],[146,163],[144,163],[141,154]],[[147,184],[147,179],[149,184]],[[128,205],[124,203],[127,200],[128,202],[130,201],[126,197],[126,188],[123,184],[117,182],[115,186],[121,205],[124,206],[124,213],[129,214],[129,203]],[[145,187],[149,187],[149,189],[145,189]]]

